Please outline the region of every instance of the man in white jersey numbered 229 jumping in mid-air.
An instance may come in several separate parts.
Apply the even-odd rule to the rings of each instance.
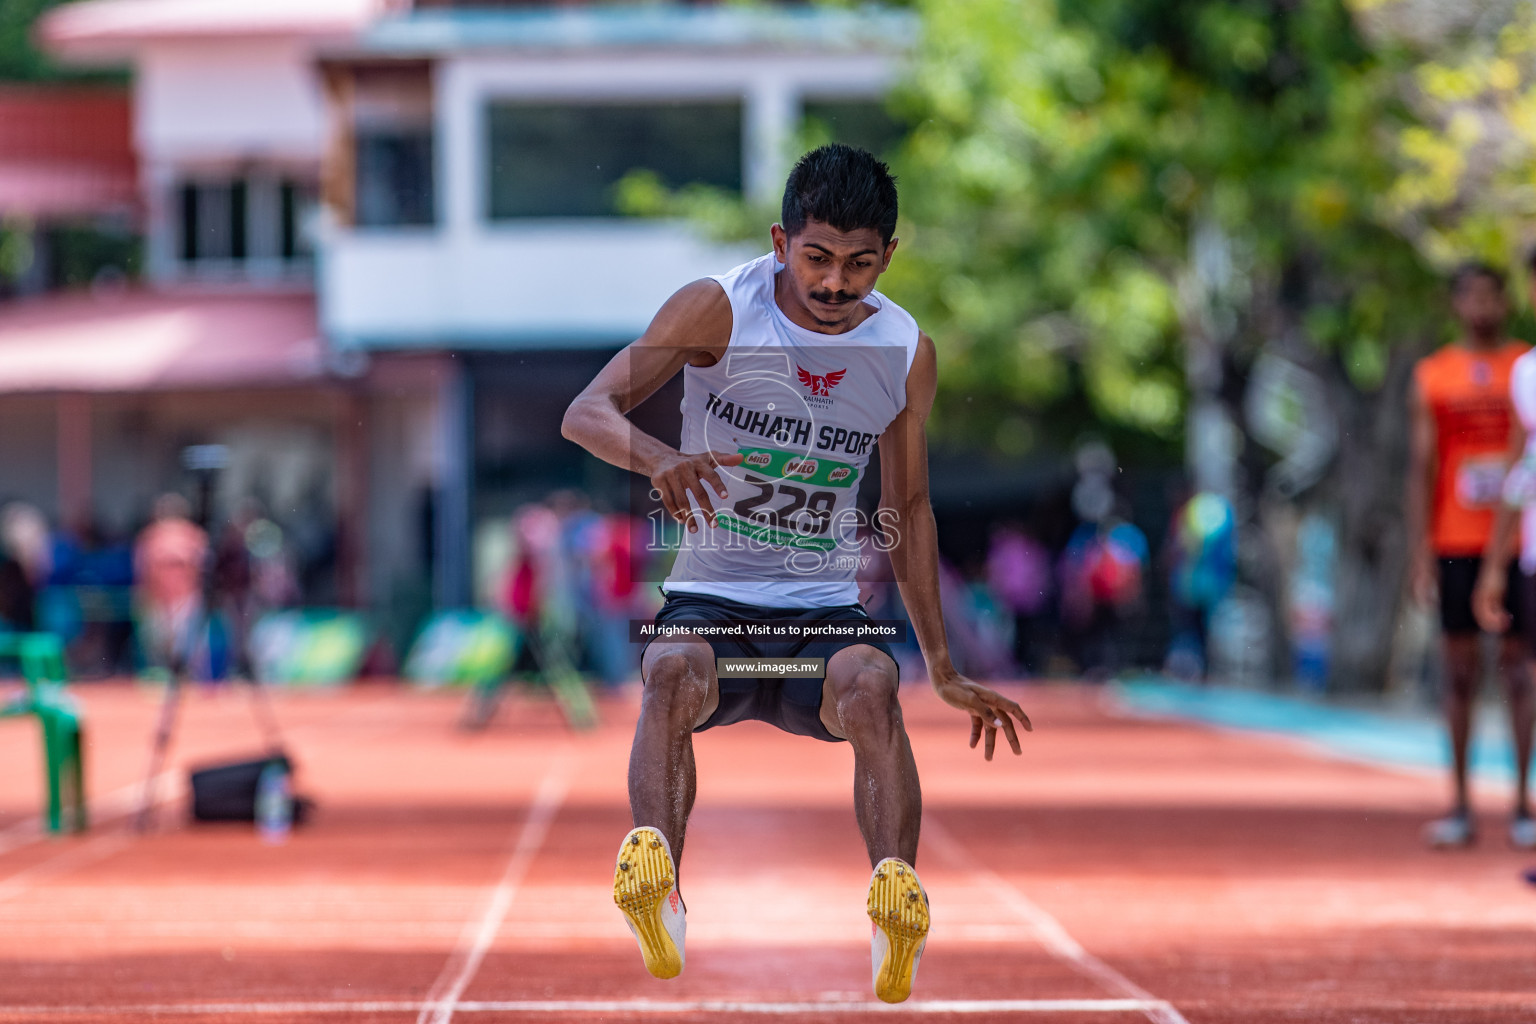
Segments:
[[[650,477],[687,522],[645,648],[641,720],[630,752],[631,831],[614,901],[657,978],[684,966],[677,863],[694,798],[691,734],[757,718],[854,751],[854,812],[874,874],[868,909],[876,995],[911,993],[928,935],[917,880],[922,792],[902,725],[897,666],[859,606],[860,543],[888,543],[934,691],[971,715],[971,746],[998,729],[1020,752],[1017,703],[955,671],[938,605],[938,550],[923,433],[935,388],[934,342],[874,290],[895,252],[895,181],[848,146],[806,154],[790,173],[773,252],[673,295],[645,333],[571,402],[564,434]],[[682,444],[627,419],[679,370]],[[859,484],[880,448],[879,522]],[[748,626],[790,623],[791,639]],[[693,631],[685,628],[691,625]],[[723,633],[722,633],[723,631]],[[793,639],[799,637],[799,639]],[[822,677],[739,677],[717,657],[823,659]]]

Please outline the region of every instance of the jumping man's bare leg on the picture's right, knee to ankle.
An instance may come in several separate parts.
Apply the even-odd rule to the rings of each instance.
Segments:
[[[822,725],[854,748],[854,814],[869,866],[886,857],[915,864],[923,792],[902,723],[895,662],[865,643],[829,657]]]

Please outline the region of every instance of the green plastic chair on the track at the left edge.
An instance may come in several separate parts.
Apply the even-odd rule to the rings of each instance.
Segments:
[[[0,705],[0,718],[37,715],[43,728],[48,831],[84,832],[86,783],[81,714],[65,688],[65,645],[52,633],[0,634],[0,659],[20,663],[25,692]]]

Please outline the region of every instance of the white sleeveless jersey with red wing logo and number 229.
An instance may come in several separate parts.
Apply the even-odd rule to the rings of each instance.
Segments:
[[[710,494],[716,525],[682,533],[662,590],[760,608],[859,600],[859,485],[876,441],[906,405],[917,321],[877,307],[843,335],[796,325],[774,301],[773,253],[714,278],[731,301],[731,341],[711,367],[684,367],[682,451],[739,451]]]

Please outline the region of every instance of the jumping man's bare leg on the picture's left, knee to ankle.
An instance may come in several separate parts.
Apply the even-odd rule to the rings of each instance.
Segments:
[[[630,748],[630,815],[660,829],[682,864],[682,841],[697,791],[693,728],[720,703],[714,649],[699,639],[657,640],[641,659],[645,688]]]

